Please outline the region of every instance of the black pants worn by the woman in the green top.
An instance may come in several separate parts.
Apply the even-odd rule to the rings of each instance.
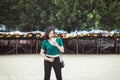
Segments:
[[[54,58],[54,62],[44,61],[44,80],[50,80],[51,69],[54,69],[57,80],[62,80],[59,57]]]

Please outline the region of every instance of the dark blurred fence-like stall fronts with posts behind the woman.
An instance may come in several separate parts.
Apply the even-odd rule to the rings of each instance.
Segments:
[[[65,53],[120,54],[120,38],[76,37],[63,39]],[[0,54],[39,53],[42,39],[0,39]]]

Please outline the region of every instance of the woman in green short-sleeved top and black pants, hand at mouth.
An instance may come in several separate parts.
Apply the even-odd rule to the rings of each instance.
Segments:
[[[62,80],[59,54],[64,52],[63,42],[60,37],[55,37],[53,27],[48,27],[45,40],[42,42],[40,54],[44,58],[44,80],[50,80],[53,67],[57,80]]]

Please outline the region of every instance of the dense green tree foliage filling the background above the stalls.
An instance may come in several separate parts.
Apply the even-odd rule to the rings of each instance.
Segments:
[[[119,0],[0,0],[0,24],[21,31],[48,26],[120,29]]]

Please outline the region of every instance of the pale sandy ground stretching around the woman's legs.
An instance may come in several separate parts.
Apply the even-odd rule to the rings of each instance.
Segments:
[[[64,54],[63,80],[120,80],[120,55]],[[39,54],[0,55],[0,80],[43,80]],[[56,80],[52,70],[51,80]]]

